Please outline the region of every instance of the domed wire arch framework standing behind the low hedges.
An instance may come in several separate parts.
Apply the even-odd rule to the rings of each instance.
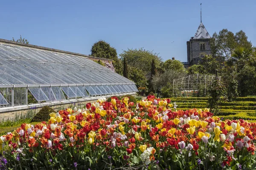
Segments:
[[[190,74],[186,77],[174,79],[172,82],[173,96],[192,97],[207,96],[209,85],[216,79],[215,75]],[[217,77],[218,81],[221,77]]]

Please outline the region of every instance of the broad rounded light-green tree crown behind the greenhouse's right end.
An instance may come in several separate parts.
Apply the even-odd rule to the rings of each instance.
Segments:
[[[146,75],[151,71],[151,62],[154,59],[156,68],[159,67],[161,58],[157,53],[153,53],[153,51],[148,51],[143,48],[135,48],[129,49],[127,51],[123,51],[122,54],[119,55],[122,60],[126,57],[127,64],[129,66],[133,66],[137,69],[143,71],[143,74]]]

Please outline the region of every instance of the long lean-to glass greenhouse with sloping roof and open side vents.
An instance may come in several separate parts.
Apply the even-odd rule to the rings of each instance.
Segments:
[[[90,56],[0,39],[0,108],[135,94],[134,82]]]

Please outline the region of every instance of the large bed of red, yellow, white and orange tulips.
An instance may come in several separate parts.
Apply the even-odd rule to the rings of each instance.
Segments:
[[[0,168],[253,169],[255,141],[256,123],[221,120],[207,108],[102,98],[1,136]]]

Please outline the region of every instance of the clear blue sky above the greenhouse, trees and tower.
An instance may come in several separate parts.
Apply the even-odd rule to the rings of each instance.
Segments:
[[[212,36],[243,30],[256,45],[255,0],[6,0],[0,3],[0,38],[90,54],[105,40],[117,53],[154,50],[163,60],[186,61],[186,41],[202,22]]]

